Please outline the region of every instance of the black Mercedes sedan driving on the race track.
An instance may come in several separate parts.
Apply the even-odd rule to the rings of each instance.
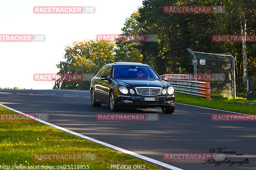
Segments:
[[[118,107],[161,107],[163,113],[175,109],[174,88],[147,64],[116,62],[104,65],[91,81],[91,104]]]

